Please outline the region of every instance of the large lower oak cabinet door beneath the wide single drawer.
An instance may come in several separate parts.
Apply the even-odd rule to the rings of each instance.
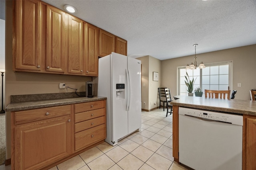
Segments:
[[[70,116],[15,127],[15,169],[35,170],[71,154]]]

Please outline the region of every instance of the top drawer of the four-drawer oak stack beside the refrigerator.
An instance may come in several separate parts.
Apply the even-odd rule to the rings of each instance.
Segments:
[[[80,113],[83,111],[90,111],[90,110],[95,110],[95,109],[101,109],[104,107],[106,107],[105,100],[75,104],[75,113]]]

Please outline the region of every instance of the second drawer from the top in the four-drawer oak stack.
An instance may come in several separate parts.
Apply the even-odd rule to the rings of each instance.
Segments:
[[[75,123],[106,115],[106,109],[97,109],[75,114]]]

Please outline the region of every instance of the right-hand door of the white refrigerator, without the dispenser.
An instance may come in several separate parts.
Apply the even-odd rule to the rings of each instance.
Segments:
[[[128,110],[128,134],[141,127],[141,61],[127,57],[130,75],[130,106]]]

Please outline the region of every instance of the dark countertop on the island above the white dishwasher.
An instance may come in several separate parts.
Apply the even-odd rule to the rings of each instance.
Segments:
[[[195,109],[256,115],[256,101],[250,100],[225,100],[184,96],[178,100],[173,100],[171,104],[176,106],[191,107]]]

